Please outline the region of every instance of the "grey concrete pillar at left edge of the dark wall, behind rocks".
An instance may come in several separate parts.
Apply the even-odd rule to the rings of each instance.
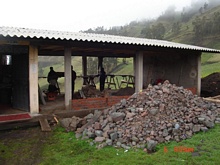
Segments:
[[[137,52],[135,56],[135,92],[143,88],[143,52]]]

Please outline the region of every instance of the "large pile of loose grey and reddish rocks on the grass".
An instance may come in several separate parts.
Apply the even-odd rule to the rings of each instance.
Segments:
[[[157,143],[191,138],[215,123],[220,123],[220,105],[165,81],[149,85],[109,109],[89,114],[81,119],[83,126],[78,127],[76,135],[125,149],[144,148],[146,144],[150,149]]]

